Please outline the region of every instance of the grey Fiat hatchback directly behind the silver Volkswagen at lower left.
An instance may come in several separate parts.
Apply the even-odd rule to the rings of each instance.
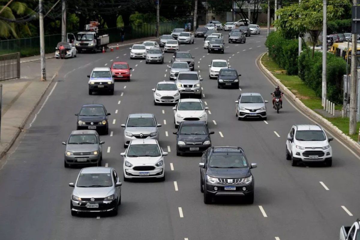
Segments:
[[[101,166],[104,143],[104,141],[100,141],[99,134],[95,130],[72,131],[69,139],[62,142],[63,145],[66,145],[64,167],[82,164]]]

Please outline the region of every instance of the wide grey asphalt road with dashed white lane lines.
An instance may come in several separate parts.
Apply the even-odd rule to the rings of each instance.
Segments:
[[[360,211],[360,158],[335,139],[333,167],[291,167],[285,159],[287,134],[293,124],[313,122],[286,99],[280,114],[272,108],[274,86],[256,64],[266,51],[265,39],[263,32],[247,37],[246,44],[228,44],[225,33],[225,54],[208,54],[202,38],[180,46],[195,57],[195,71],[204,78],[202,100],[209,107],[208,127],[215,131],[213,146],[241,146],[249,162],[258,164],[252,171],[254,204],[243,204],[241,199],[204,204],[200,157],[176,156],[172,106],[153,104],[151,89],[158,81],[168,80],[172,54],[165,54],[162,65],[145,64],[145,60],[130,60],[127,46],[64,61],[49,97],[1,160],[0,239],[337,239],[340,226],[351,224]],[[208,78],[212,59],[226,59],[242,74],[240,89],[217,89],[216,80]],[[113,96],[88,95],[86,75],[117,60],[129,62],[131,82],[116,82]],[[267,121],[237,120],[234,101],[241,92],[260,92],[269,100]],[[76,129],[74,114],[86,103],[104,104],[111,113],[109,135],[101,136],[103,164],[114,167],[120,176],[124,151],[120,125],[127,116],[153,113],[162,124],[160,144],[169,152],[166,181],[123,183],[116,217],[70,214],[68,183],[76,180],[80,168],[63,167],[61,142]]]

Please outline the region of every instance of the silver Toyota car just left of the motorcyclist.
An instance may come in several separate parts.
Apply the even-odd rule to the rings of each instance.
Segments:
[[[266,120],[266,106],[260,93],[244,92],[235,101],[235,115],[238,120],[244,118],[261,118]]]

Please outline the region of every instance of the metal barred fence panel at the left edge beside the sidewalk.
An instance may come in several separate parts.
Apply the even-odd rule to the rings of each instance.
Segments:
[[[20,78],[20,53],[0,55],[0,81]]]

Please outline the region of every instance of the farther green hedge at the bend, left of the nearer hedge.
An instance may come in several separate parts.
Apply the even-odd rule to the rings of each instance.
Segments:
[[[271,32],[265,41],[269,56],[289,75],[298,74],[298,40],[287,40],[279,32]]]

